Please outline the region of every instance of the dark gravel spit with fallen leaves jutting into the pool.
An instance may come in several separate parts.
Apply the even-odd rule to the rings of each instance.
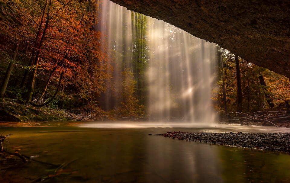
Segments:
[[[290,154],[289,133],[187,133],[167,132],[162,136],[178,140],[220,144],[225,146],[280,151]]]

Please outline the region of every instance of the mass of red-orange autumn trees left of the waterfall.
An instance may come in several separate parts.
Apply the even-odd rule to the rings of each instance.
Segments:
[[[62,99],[78,95],[84,102],[95,101],[105,90],[104,80],[110,77],[106,71],[111,69],[107,54],[102,51],[105,44],[100,44],[101,33],[94,29],[98,3],[94,0],[7,0],[1,3],[0,35],[8,40],[1,42],[1,53],[6,55],[2,58],[15,60],[14,55],[21,53],[17,56],[17,69],[24,68],[24,74],[22,79],[21,75],[13,79],[22,80],[20,91],[27,80],[25,102],[35,101],[32,102],[35,106],[49,104],[60,89]],[[7,30],[9,28],[11,30]],[[16,43],[20,43],[18,52],[13,51]],[[9,68],[12,67],[8,67],[11,72]]]

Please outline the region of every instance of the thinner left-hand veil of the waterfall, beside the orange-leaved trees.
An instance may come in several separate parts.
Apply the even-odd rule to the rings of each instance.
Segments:
[[[118,106],[116,96],[120,91],[122,67],[132,68],[132,12],[108,0],[98,0],[98,24],[96,30],[101,31],[101,41],[106,44],[109,64],[113,66],[112,81],[106,83],[106,93],[101,96],[105,110]],[[111,70],[107,71],[111,72]],[[111,86],[114,86],[112,88]]]

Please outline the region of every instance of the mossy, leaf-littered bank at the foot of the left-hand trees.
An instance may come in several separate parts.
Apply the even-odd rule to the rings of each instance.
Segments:
[[[91,111],[91,112],[88,112]],[[0,98],[0,121],[143,121],[146,118],[136,115],[121,115],[118,111],[103,111],[100,108],[84,110],[76,108],[63,110],[51,107],[34,107],[30,104],[21,104],[14,99]]]

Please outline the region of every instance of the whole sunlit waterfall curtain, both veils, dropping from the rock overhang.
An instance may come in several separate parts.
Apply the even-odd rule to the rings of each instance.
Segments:
[[[217,57],[215,44],[108,0],[103,0],[100,7],[98,27],[107,35],[104,39],[113,60],[114,83],[121,82],[120,72],[124,68],[130,68],[138,83],[136,88],[141,85],[141,88],[147,89],[144,93],[147,94],[147,108],[153,119],[214,120],[211,93]],[[146,31],[140,31],[144,27]],[[146,48],[142,46],[140,49],[141,39],[146,40]],[[143,53],[144,49],[147,53]],[[146,82],[139,81],[140,60],[148,63],[148,69],[143,74]],[[114,95],[117,95],[114,90],[108,89],[104,97],[107,105],[116,105],[112,101]]]

